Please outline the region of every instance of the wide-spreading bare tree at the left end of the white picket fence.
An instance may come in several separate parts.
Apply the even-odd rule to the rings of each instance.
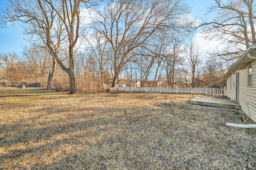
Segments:
[[[98,11],[92,27],[106,37],[113,51],[112,87],[123,66],[136,55],[136,48],[145,48],[156,31],[182,32],[188,12],[188,4],[183,0],[110,0]]]

